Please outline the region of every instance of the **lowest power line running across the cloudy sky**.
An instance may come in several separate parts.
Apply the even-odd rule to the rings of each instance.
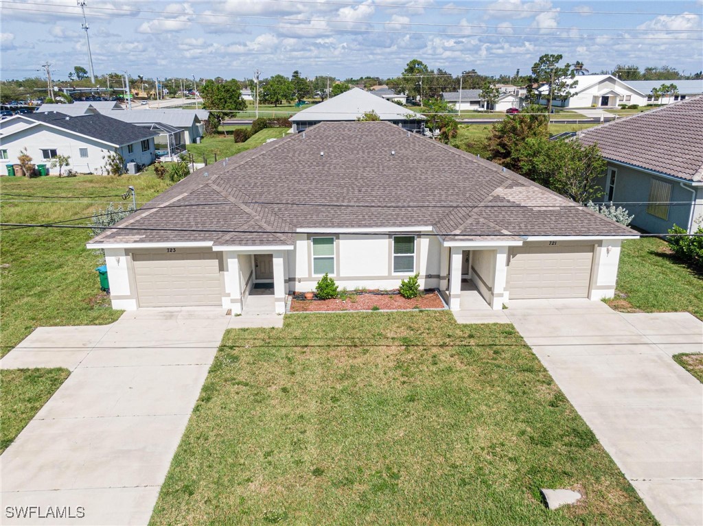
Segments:
[[[19,7],[14,7],[14,6],[8,6],[7,4],[11,4],[10,0],[6,0],[3,2],[3,7],[6,9],[11,9],[13,11],[29,11],[30,13],[47,13],[47,14],[52,14],[56,15],[59,13],[58,11],[54,10],[44,10],[44,9],[27,9],[27,8],[19,8]],[[23,4],[22,5],[26,5]],[[51,4],[48,4],[51,5]],[[122,11],[123,13],[131,13],[131,11],[128,10],[117,10],[116,11]],[[74,14],[74,13],[61,13],[63,15],[68,15],[68,14]],[[101,18],[112,18],[111,15],[108,14],[102,14],[102,13],[93,13],[93,16],[98,16]],[[181,15],[181,16],[186,16],[186,17],[193,17],[193,16],[212,16],[212,15],[203,15],[203,14],[195,14],[195,13],[189,13],[186,15]],[[218,15],[219,16],[219,15]],[[187,22],[187,23],[193,23],[192,20],[177,20],[174,18],[153,18],[153,17],[140,17],[140,16],[129,16],[129,20],[149,20],[149,21],[160,21],[160,22]],[[292,22],[295,21],[294,19],[288,19],[291,20]],[[582,40],[582,39],[601,39],[603,36],[602,35],[558,35],[558,34],[498,34],[498,33],[465,33],[465,32],[432,32],[432,31],[402,31],[402,30],[394,30],[394,29],[365,29],[365,28],[357,28],[357,29],[349,29],[349,28],[342,28],[342,27],[336,27],[336,28],[319,28],[319,27],[310,27],[310,26],[304,26],[304,25],[267,25],[267,24],[251,24],[251,23],[237,23],[237,22],[206,22],[204,20],[197,20],[195,23],[198,24],[204,24],[204,25],[217,25],[218,27],[223,27],[223,26],[236,26],[236,27],[263,27],[266,29],[293,29],[296,31],[313,31],[313,32],[349,32],[349,33],[387,33],[387,34],[418,34],[418,35],[438,35],[438,36],[446,36],[446,37],[465,37],[465,38],[470,38],[470,37],[501,37],[501,38],[526,38],[526,37],[531,37],[531,38],[549,38],[549,39],[577,39],[577,40]],[[348,22],[344,22],[348,23]],[[615,37],[614,37],[615,38]],[[637,41],[658,41],[658,40],[674,40],[674,41],[703,41],[703,38],[689,38],[689,37],[617,37],[617,39],[623,40],[623,41],[629,41],[629,40],[637,40]],[[273,52],[269,53],[273,54]]]

